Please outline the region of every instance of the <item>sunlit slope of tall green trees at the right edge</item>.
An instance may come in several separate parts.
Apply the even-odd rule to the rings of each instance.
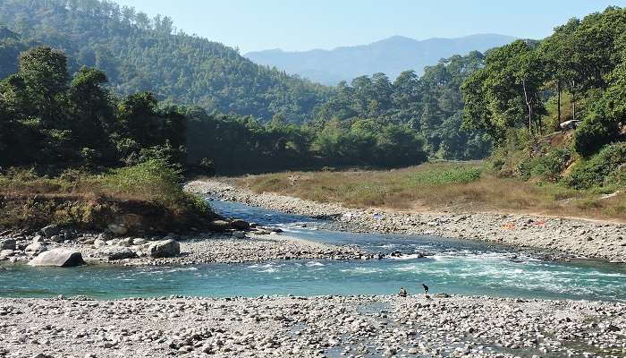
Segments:
[[[489,133],[503,173],[576,188],[626,184],[626,9],[489,51],[462,91],[464,124]]]

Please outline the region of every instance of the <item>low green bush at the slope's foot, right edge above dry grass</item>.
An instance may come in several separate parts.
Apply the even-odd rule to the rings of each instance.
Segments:
[[[566,183],[576,189],[608,185],[607,178],[619,177],[626,164],[626,142],[614,143],[595,156],[580,160],[566,178]]]

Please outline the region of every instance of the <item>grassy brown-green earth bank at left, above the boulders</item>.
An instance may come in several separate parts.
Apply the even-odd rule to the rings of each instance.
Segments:
[[[181,173],[161,160],[89,175],[69,170],[57,177],[10,169],[0,175],[0,226],[50,224],[129,233],[184,231],[202,226],[211,209],[183,192]]]

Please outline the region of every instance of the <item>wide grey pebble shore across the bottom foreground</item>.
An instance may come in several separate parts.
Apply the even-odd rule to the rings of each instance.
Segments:
[[[491,297],[0,299],[1,357],[623,357],[626,305]]]

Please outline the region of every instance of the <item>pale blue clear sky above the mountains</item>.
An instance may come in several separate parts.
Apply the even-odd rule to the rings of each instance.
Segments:
[[[187,33],[248,51],[362,45],[393,35],[544,38],[571,17],[626,0],[117,0]]]

